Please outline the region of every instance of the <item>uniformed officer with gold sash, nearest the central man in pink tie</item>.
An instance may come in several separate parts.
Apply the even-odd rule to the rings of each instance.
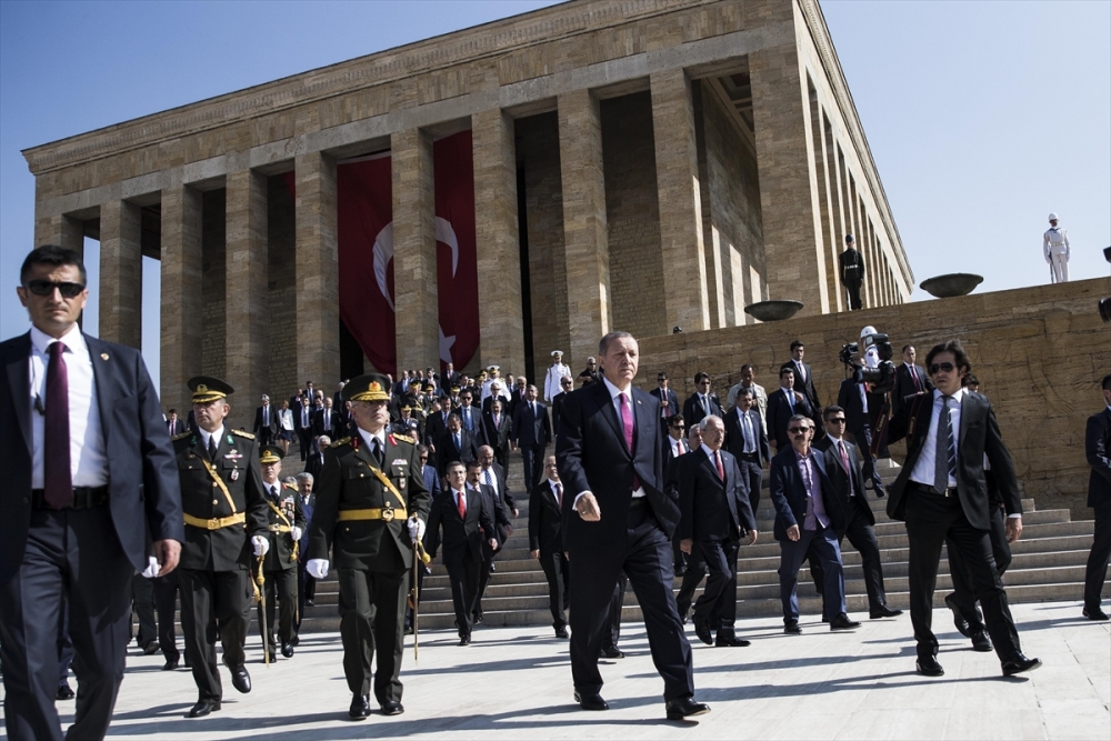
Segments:
[[[340,587],[343,673],[353,695],[348,713],[362,720],[370,714],[376,648],[374,697],[383,714],[404,712],[398,674],[406,595],[414,543],[424,535],[429,492],[417,441],[390,432],[390,380],[360,375],[346,390],[358,430],[324,452],[306,570],[323,579],[331,550]]]

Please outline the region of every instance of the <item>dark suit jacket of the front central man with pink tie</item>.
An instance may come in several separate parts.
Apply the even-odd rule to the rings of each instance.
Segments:
[[[624,548],[634,472],[669,540],[679,524],[679,503],[662,488],[660,404],[637,388],[630,395],[634,418],[632,450],[625,444],[604,382],[572,391],[563,404],[563,431],[556,441],[556,460],[565,493],[562,532],[569,551],[605,554]],[[583,491],[592,492],[598,500],[602,512],[598,522],[587,522],[572,508],[574,498]]]

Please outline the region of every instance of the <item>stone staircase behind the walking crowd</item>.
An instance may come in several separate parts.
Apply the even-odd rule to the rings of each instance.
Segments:
[[[510,489],[513,492],[522,492],[523,473],[519,457],[511,458],[510,469]],[[893,481],[897,472],[898,465],[890,461],[881,465],[884,481]],[[754,545],[741,547],[738,562],[738,618],[741,621],[747,617],[782,614],[777,574],[780,548],[772,537],[774,515],[768,497],[767,478],[765,475],[761,509],[757,514],[760,538]],[[548,611],[548,583],[537,561],[529,558],[528,495],[518,493],[517,502],[520,514],[514,522],[513,537],[498,555],[497,572],[492,574],[482,600],[486,625],[547,627],[551,624],[551,614]],[[884,512],[887,500],[871,500],[870,503],[875,512],[875,535],[883,561],[888,603],[893,608],[907,609],[909,550],[905,529],[903,523],[888,519]],[[1013,560],[1003,578],[1009,600],[1079,602],[1083,593],[1084,564],[1092,544],[1093,523],[1072,521],[1068,509],[1038,510],[1032,499],[1024,499],[1022,505],[1025,512],[1022,518],[1022,539],[1011,547]],[[849,613],[855,619],[867,618],[868,598],[860,554],[848,541],[844,542],[844,547]],[[934,603],[939,605],[952,585],[948,565],[945,554],[942,553],[938,577],[940,594],[934,599]],[[680,581],[675,580],[677,591]],[[301,625],[302,633],[339,630],[336,609],[337,588],[332,575],[317,584],[316,607],[307,609]],[[803,615],[821,614],[821,598],[817,595],[813,584],[809,581],[805,567],[800,573],[799,607]],[[630,589],[625,593],[622,620],[640,619],[640,608]],[[450,629],[453,622],[451,589],[443,565],[434,563],[432,574],[426,577],[421,592],[420,627],[421,630]],[[743,622],[740,629],[743,630]],[[253,632],[252,628],[252,634]]]

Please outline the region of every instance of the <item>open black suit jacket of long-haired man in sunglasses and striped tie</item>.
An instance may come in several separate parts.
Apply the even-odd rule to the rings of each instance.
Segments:
[[[904,399],[899,413],[891,418],[888,425],[890,442],[907,438],[907,460],[899,477],[888,489],[888,517],[892,520],[907,519],[907,483],[928,442],[932,413],[933,392],[923,392]],[[969,523],[979,530],[989,530],[991,519],[988,484],[983,477],[983,457],[987,454],[988,462],[991,463],[991,472],[1008,514],[1022,513],[1022,498],[1014,475],[1014,464],[999,434],[995,412],[985,397],[964,392],[960,427],[957,435],[957,494]],[[932,441],[929,443],[933,444]]]

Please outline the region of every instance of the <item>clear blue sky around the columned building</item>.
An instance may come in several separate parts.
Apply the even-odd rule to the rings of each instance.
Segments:
[[[27,329],[14,287],[34,181],[21,149],[546,4],[0,0],[0,338]],[[984,276],[981,291],[1048,282],[1050,211],[1069,230],[1071,277],[1109,274],[1111,2],[822,10],[915,282],[954,271]],[[157,381],[148,262],[143,347]]]

